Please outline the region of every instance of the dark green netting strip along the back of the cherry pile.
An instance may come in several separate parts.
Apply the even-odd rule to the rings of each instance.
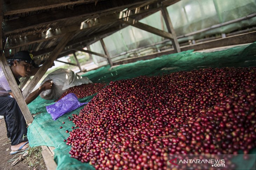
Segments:
[[[209,53],[188,50],[150,60],[136,61],[111,69],[109,65],[103,66],[82,76],[87,76],[95,83],[130,79],[140,75],[160,75],[208,67],[249,67],[256,65],[255,53],[256,43]]]

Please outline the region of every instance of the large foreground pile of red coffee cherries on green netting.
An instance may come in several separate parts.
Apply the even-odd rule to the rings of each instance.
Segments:
[[[141,76],[111,82],[73,114],[66,144],[96,169],[166,169],[170,154],[247,154],[255,113],[256,67]]]

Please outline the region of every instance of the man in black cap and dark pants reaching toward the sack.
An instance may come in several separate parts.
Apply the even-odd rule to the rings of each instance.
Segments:
[[[39,66],[34,62],[33,55],[28,51],[19,51],[12,59],[7,60],[12,73],[19,85],[20,77],[34,75]],[[32,102],[43,90],[52,88],[52,82],[46,81],[26,98],[26,103]],[[12,96],[12,97],[11,97]],[[23,114],[14,98],[5,74],[0,67],[0,115],[6,121],[7,136],[11,138],[11,155],[26,150],[28,145],[27,125]]]

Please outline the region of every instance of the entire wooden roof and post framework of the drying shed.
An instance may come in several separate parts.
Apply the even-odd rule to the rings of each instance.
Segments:
[[[136,59],[113,63],[103,40],[106,36],[127,27],[127,25],[132,25],[133,27],[171,40],[173,50],[154,54],[154,56],[151,55],[152,58],[166,53],[180,52],[191,48],[203,49],[216,45],[216,42],[206,42],[180,47],[177,39],[181,37],[176,36],[166,9],[167,6],[178,1],[179,0],[0,0],[0,21],[2,26],[0,30],[0,36],[2,38],[0,43],[0,66],[7,77],[27,124],[32,123],[33,117],[28,110],[25,99],[30,94],[31,89],[34,89],[47,69],[52,65],[54,60],[63,62],[58,60],[58,58],[67,56],[68,54],[74,54],[76,64],[64,63],[78,66],[80,71],[82,71],[82,68],[76,58],[76,51],[106,58],[110,66],[135,61]],[[162,12],[168,32],[139,22],[139,20],[159,10]],[[251,14],[247,18],[254,16],[256,16],[256,14]],[[233,22],[222,23],[222,25],[230,23]],[[206,30],[209,29],[212,28],[207,28]],[[252,40],[256,39],[255,32],[252,32],[250,35],[243,34],[241,36],[248,37],[248,39],[242,39],[243,42],[247,43],[253,42]],[[227,44],[227,42],[232,41],[234,44],[235,39],[237,40],[239,37],[226,37],[225,39],[221,39],[219,43]],[[88,50],[83,49],[98,40],[100,40],[105,54],[90,51],[89,48],[87,48]],[[21,93],[6,60],[11,58],[16,52],[22,50],[32,52],[35,62],[42,64],[42,67],[40,67],[39,71]],[[148,59],[150,57],[146,58]],[[20,85],[21,89],[27,81],[28,78],[23,80]],[[45,149],[47,150],[47,148]],[[43,152],[45,153],[45,151]],[[44,155],[46,155],[44,156],[45,158],[49,157],[46,153]],[[49,169],[52,168],[53,167],[50,167]]]

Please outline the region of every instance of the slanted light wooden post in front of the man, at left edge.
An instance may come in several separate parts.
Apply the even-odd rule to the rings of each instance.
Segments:
[[[0,0],[0,66],[5,74],[5,77],[9,83],[9,86],[11,87],[12,93],[16,99],[16,102],[18,103],[20,110],[26,120],[26,123],[28,125],[30,125],[32,123],[32,121],[34,120],[33,116],[31,115],[27,103],[25,102],[24,97],[21,94],[20,88],[13,76],[12,70],[9,67],[6,58],[5,58],[5,54],[3,53],[3,45],[2,45],[2,0]]]

